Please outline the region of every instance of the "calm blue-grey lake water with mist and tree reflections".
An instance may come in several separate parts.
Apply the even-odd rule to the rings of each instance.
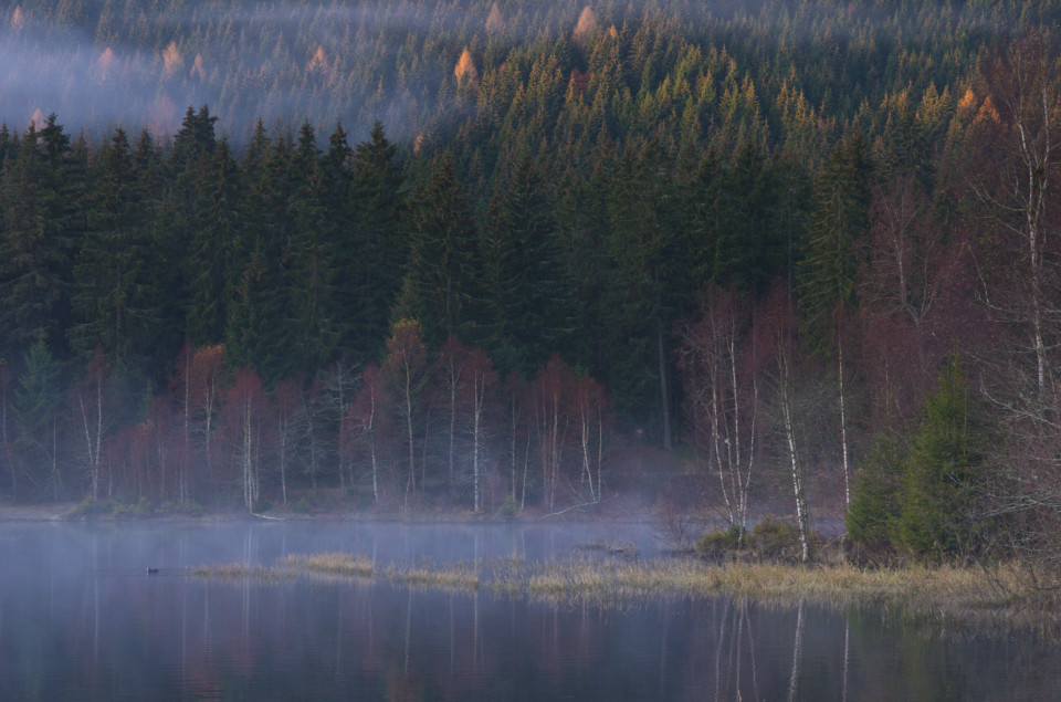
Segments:
[[[0,524],[0,699],[1061,699],[1055,648],[879,611],[728,598],[601,611],[178,574],[334,549],[563,558],[591,538],[654,548],[638,527]]]

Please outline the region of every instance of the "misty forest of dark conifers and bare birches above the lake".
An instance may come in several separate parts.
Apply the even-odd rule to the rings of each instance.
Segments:
[[[0,3],[0,495],[1061,553],[1059,18]]]

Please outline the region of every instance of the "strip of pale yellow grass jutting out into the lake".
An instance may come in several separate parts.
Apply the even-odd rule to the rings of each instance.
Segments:
[[[370,577],[376,581],[456,590],[485,589],[554,604],[618,606],[654,597],[728,595],[776,604],[884,606],[942,620],[1016,615],[1020,603],[996,589],[979,570],[952,566],[905,566],[863,570],[851,565],[803,567],[777,564],[707,564],[698,559],[567,559],[527,563],[502,558],[475,563],[431,560],[374,567],[361,556],[339,553],[292,555],[272,566],[199,566],[201,577],[277,580]],[[1006,585],[1006,584],[1004,584]],[[1011,585],[1011,584],[1010,584]],[[1051,626],[1037,612],[1027,616]],[[1012,618],[1017,624],[1018,620]]]

